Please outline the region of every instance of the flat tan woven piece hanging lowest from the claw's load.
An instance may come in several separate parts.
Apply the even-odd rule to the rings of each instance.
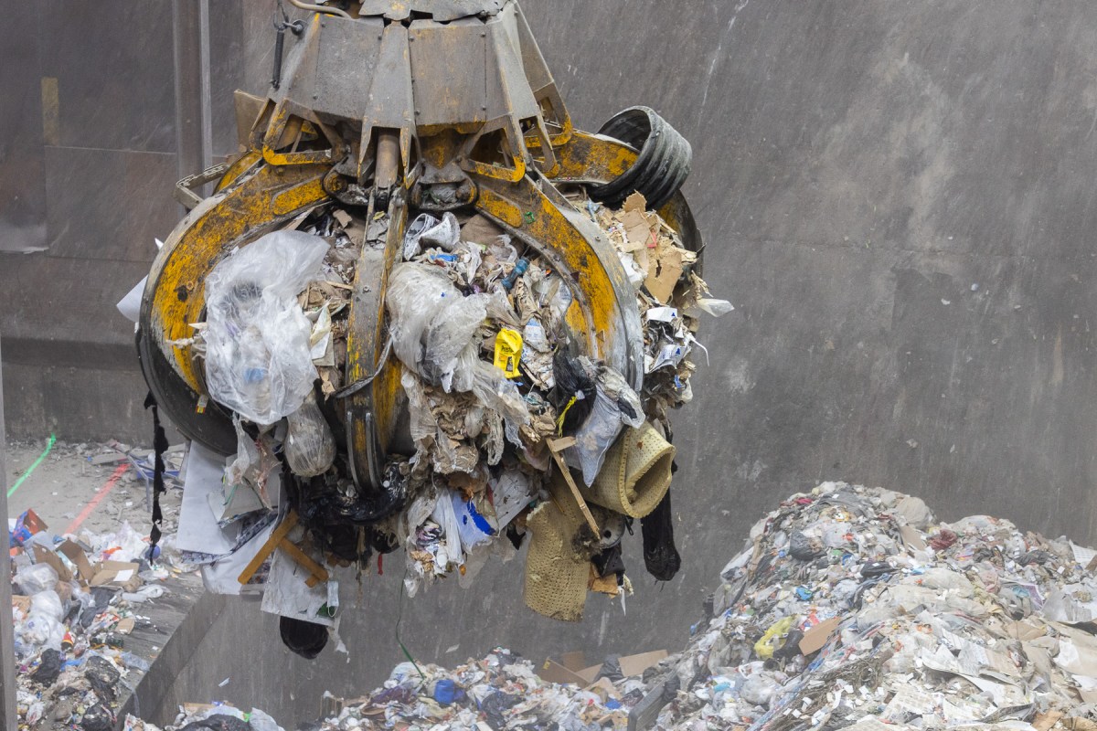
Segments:
[[[586,523],[561,481],[557,475],[550,487],[553,500],[538,505],[529,516],[532,538],[525,555],[525,605],[553,619],[579,621],[587,604],[590,559],[577,552],[576,536]]]

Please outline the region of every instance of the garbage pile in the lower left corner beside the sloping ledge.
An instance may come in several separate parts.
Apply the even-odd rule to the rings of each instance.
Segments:
[[[9,530],[21,729],[54,723],[110,731],[132,672],[148,670],[126,650],[145,618],[140,605],[185,569],[146,562],[148,546],[128,523],[110,534],[60,537],[27,511]]]

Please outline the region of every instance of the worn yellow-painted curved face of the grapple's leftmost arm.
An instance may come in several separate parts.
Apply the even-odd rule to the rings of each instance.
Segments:
[[[247,243],[327,198],[327,165],[273,168],[256,164],[192,210],[171,232],[146,285],[151,332],[172,367],[197,392],[188,349],[170,345],[193,334],[205,307],[205,277],[233,247]]]

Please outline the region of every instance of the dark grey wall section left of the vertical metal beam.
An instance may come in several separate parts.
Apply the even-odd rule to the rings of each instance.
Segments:
[[[9,434],[134,437],[143,381],[133,325],[114,302],[147,272],[152,237],[179,217],[171,13],[126,0],[3,7]]]

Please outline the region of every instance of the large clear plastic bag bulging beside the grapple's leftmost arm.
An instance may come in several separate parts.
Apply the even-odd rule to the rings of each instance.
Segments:
[[[321,275],[328,248],[317,236],[275,231],[206,277],[206,387],[248,421],[273,424],[312,391],[312,324],[297,294]]]

